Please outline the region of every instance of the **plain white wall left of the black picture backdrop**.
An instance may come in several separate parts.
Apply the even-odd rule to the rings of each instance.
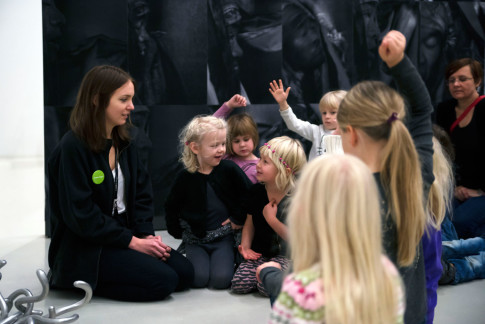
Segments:
[[[44,154],[42,1],[0,0],[0,158]]]

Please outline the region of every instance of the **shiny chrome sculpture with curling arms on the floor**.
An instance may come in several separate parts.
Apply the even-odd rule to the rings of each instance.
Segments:
[[[0,260],[0,269],[6,264],[7,261]],[[43,270],[37,270],[36,274],[42,286],[42,292],[38,296],[34,296],[30,290],[26,288],[17,289],[6,298],[4,298],[0,292],[0,324],[50,324],[75,322],[79,318],[78,314],[73,314],[68,317],[60,316],[81,308],[85,304],[89,303],[91,297],[93,296],[91,286],[84,281],[74,282],[74,287],[84,290],[84,298],[72,305],[65,307],[56,308],[55,306],[49,306],[49,314],[42,316],[42,311],[34,310],[34,303],[39,302],[47,297],[47,294],[49,293],[49,281],[47,280],[47,275]],[[0,280],[1,279],[2,274],[0,273]],[[17,311],[10,314],[14,307],[17,309]]]

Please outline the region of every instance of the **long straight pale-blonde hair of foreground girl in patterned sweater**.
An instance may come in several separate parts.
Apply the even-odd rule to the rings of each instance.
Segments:
[[[325,323],[396,322],[398,274],[382,263],[377,187],[362,161],[343,154],[309,162],[288,228],[294,272],[315,264],[322,272]]]

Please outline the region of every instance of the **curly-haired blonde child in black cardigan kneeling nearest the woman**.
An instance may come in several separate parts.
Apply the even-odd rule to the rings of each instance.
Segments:
[[[246,215],[242,201],[251,182],[226,153],[226,122],[194,117],[180,134],[182,170],[165,204],[167,230],[183,239],[195,270],[193,287],[226,289],[234,274],[233,229]]]

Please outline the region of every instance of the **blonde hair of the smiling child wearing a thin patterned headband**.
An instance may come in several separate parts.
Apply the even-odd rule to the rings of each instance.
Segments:
[[[295,187],[296,175],[306,163],[303,146],[297,139],[280,136],[271,139],[259,148],[261,157],[268,157],[276,166],[276,188],[286,193]]]

